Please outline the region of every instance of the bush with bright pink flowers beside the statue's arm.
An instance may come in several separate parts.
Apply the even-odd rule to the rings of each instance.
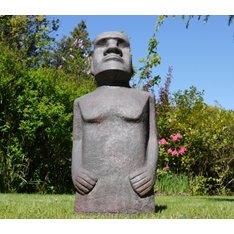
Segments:
[[[182,157],[187,151],[182,135],[177,133],[170,138],[159,140],[159,167],[164,171],[181,172]]]

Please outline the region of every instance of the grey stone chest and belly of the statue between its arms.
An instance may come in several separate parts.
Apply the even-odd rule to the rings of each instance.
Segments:
[[[131,168],[144,164],[148,99],[147,92],[109,86],[79,99],[86,169],[99,176],[129,175]]]

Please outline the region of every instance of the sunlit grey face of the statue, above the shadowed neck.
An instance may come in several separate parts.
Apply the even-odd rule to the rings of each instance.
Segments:
[[[128,38],[120,32],[105,32],[94,40],[91,72],[94,76],[107,70],[133,73]]]

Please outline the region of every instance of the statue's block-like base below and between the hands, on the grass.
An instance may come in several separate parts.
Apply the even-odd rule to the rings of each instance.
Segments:
[[[139,197],[129,178],[100,178],[87,195],[76,193],[75,213],[155,213],[154,191]]]

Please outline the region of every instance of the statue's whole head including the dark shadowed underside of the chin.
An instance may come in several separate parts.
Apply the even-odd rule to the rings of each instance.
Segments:
[[[97,83],[123,83],[133,75],[128,38],[120,32],[104,32],[94,39],[91,73]]]

